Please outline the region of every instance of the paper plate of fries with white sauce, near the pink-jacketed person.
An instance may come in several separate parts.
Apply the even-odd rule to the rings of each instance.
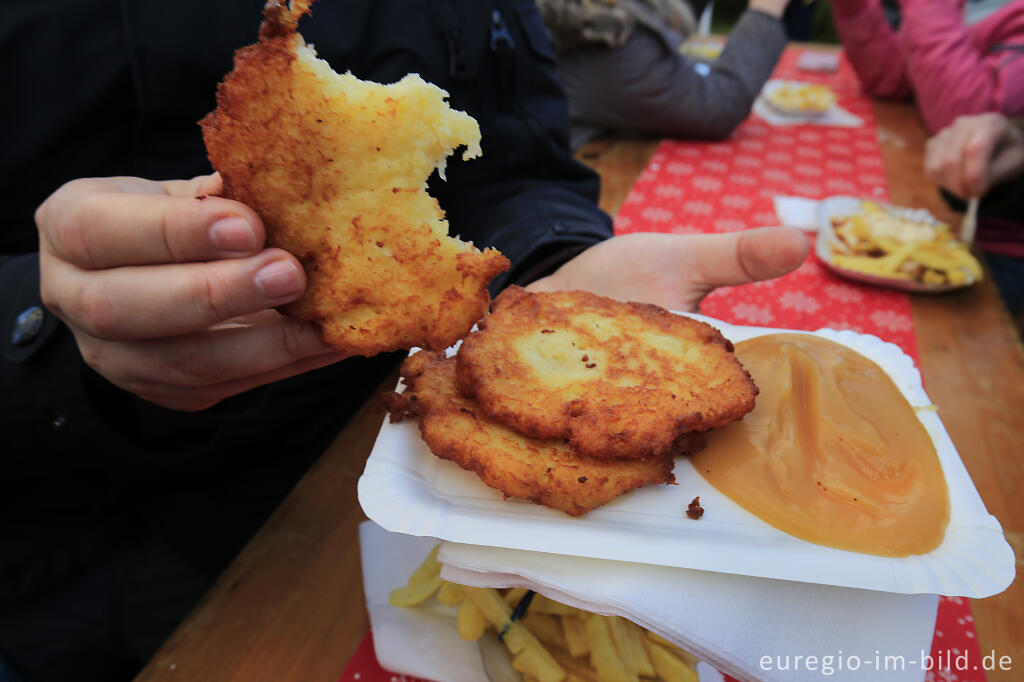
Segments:
[[[923,209],[834,197],[820,204],[818,258],[838,274],[911,292],[963,289],[983,278],[970,246]]]

